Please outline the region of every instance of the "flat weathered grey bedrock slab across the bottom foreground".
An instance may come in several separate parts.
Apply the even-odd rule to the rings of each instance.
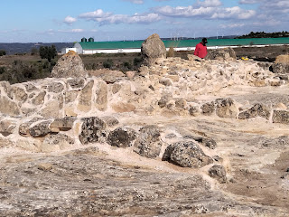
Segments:
[[[86,155],[85,151],[64,156],[15,156],[14,161],[1,166],[0,216],[262,213],[261,208],[245,207],[210,190],[201,175],[155,172],[121,165],[101,155]]]

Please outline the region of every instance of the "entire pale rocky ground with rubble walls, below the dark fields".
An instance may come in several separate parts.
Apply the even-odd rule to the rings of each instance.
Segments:
[[[0,216],[288,216],[286,63],[212,55],[0,82]]]

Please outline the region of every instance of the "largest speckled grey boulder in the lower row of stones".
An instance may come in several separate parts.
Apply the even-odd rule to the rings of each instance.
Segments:
[[[210,156],[206,156],[200,146],[192,141],[173,143],[165,149],[163,160],[182,167],[200,168],[213,163]]]

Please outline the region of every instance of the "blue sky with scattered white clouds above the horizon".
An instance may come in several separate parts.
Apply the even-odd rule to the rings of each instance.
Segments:
[[[289,0],[0,0],[0,42],[289,31]]]

